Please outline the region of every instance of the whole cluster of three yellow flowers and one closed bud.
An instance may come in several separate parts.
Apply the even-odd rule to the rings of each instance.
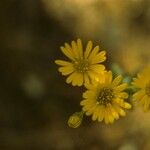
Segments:
[[[65,43],[60,47],[67,60],[56,60],[58,71],[67,76],[66,82],[73,86],[84,86],[83,99],[80,102],[81,112],[74,113],[68,120],[68,125],[77,128],[82,122],[83,115],[92,116],[92,120],[113,123],[120,116],[125,116],[125,109],[130,109],[128,99],[129,85],[123,82],[122,75],[113,77],[112,71],[106,70],[102,64],[106,60],[106,51],[101,51],[99,46],[93,47],[92,41],[83,48],[80,39],[72,41],[71,45]],[[150,107],[150,66],[137,78],[132,85],[137,92],[133,94],[133,101]]]

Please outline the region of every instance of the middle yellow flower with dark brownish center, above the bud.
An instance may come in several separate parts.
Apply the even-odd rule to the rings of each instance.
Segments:
[[[105,72],[100,78],[96,78],[92,84],[86,85],[87,91],[83,93],[84,100],[81,101],[83,111],[86,115],[92,115],[92,120],[105,121],[106,124],[113,123],[119,116],[125,116],[123,108],[130,109],[131,105],[124,101],[128,94],[124,92],[126,83],[121,83],[122,76],[119,75],[112,80],[112,72]]]

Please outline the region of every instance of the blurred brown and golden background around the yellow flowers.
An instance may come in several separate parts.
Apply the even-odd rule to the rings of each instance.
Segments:
[[[106,65],[134,75],[150,62],[149,0],[0,2],[0,150],[149,150],[150,111],[133,107],[113,125],[68,117],[82,88],[54,64],[59,47],[81,38],[107,50]]]

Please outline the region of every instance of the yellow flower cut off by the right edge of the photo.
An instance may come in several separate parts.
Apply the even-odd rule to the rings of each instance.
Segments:
[[[133,79],[132,84],[139,89],[133,95],[133,101],[144,106],[145,111],[148,110],[150,108],[150,65]]]

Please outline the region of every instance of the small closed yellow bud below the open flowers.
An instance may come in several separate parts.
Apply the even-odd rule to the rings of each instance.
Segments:
[[[73,115],[71,115],[68,119],[68,126],[71,128],[78,128],[83,119],[83,111],[81,112],[75,112]]]

